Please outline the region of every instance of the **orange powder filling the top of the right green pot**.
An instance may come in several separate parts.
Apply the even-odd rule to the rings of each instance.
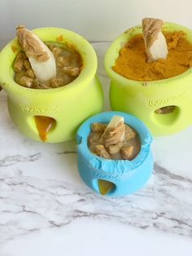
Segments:
[[[164,37],[168,43],[166,60],[147,63],[144,40],[139,34],[121,48],[113,70],[136,81],[155,81],[184,73],[192,66],[192,44],[183,32],[165,32]]]

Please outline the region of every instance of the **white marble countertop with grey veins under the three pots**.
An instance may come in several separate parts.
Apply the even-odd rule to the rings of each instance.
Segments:
[[[108,42],[93,43],[103,68]],[[0,93],[0,255],[192,255],[192,126],[154,139],[146,187],[112,198],[91,192],[76,168],[75,141],[25,138]]]

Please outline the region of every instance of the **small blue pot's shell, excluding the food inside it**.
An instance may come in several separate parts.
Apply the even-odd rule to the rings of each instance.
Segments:
[[[124,117],[124,123],[137,131],[141,150],[132,161],[111,160],[98,157],[92,153],[87,144],[94,122],[109,123],[111,117]],[[105,112],[87,119],[79,128],[76,135],[78,170],[85,184],[98,192],[98,179],[114,183],[116,187],[107,196],[125,196],[142,188],[150,178],[153,170],[153,157],[151,153],[152,137],[146,126],[137,117],[128,113]]]

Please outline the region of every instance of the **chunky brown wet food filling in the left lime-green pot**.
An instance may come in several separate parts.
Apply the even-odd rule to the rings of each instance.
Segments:
[[[48,81],[41,81],[33,72],[24,51],[20,51],[15,58],[13,69],[15,71],[15,82],[20,86],[33,89],[50,89],[65,86],[79,76],[82,69],[81,55],[74,49],[69,49],[62,43],[46,43],[46,46],[55,56],[56,77]]]

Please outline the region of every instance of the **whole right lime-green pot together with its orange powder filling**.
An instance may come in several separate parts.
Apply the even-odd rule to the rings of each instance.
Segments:
[[[105,56],[111,108],[141,118],[153,135],[169,135],[192,123],[192,31],[165,23],[168,55],[147,61],[142,29],[138,25],[122,33]],[[152,37],[155,29],[148,29]]]

